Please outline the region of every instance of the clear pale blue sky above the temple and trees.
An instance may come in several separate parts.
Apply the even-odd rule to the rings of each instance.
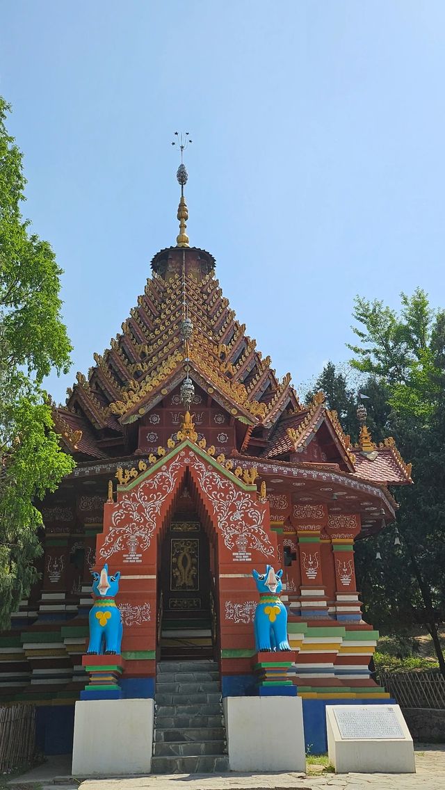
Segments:
[[[445,307],[444,23],[432,0],[3,0],[24,213],[65,272],[56,401],[175,243],[175,130],[190,243],[277,374],[348,359],[356,294]]]

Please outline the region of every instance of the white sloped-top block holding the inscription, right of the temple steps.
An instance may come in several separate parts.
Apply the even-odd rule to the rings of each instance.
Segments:
[[[327,749],[335,773],[416,773],[413,739],[398,705],[382,705],[394,712],[401,730],[399,738],[349,738],[341,735],[334,710],[360,716],[366,721],[366,709],[371,716],[378,714],[380,705],[326,705]],[[364,725],[360,724],[360,733]],[[372,725],[375,728],[375,723]],[[377,723],[378,730],[378,723]],[[383,732],[383,731],[382,731]],[[381,734],[381,732],[379,733]]]

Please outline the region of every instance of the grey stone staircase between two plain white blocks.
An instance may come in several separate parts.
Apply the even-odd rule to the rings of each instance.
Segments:
[[[160,661],[155,703],[152,773],[228,771],[215,661]]]

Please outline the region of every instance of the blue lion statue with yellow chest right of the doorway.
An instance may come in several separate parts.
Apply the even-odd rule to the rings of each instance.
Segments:
[[[288,643],[288,613],[280,600],[282,575],[282,570],[275,573],[271,565],[266,565],[264,574],[252,570],[259,592],[259,604],[255,610],[255,645],[258,652],[291,649]]]

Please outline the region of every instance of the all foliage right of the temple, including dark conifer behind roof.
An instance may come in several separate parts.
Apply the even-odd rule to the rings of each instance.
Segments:
[[[438,635],[445,622],[445,310],[433,310],[420,288],[401,301],[399,312],[360,297],[354,306],[350,365],[363,375],[368,427],[375,442],[394,436],[415,481],[393,491],[402,545],[394,545],[391,527],[377,541],[357,540],[356,576],[365,618],[387,632],[426,626],[445,673]],[[323,390],[354,442],[359,391],[348,380],[328,363],[314,390]]]

